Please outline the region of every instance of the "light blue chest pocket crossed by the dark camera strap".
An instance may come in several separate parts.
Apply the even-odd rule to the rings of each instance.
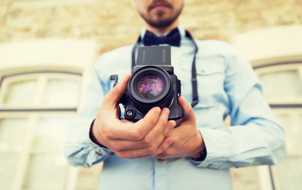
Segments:
[[[199,102],[196,108],[211,108],[218,105],[223,96],[223,82],[225,77],[224,63],[222,58],[197,59],[196,60],[196,79],[198,87]],[[183,96],[192,101],[192,63],[183,62],[182,85]],[[187,98],[188,97],[188,98]]]

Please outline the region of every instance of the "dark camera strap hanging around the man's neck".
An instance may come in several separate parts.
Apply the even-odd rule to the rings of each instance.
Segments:
[[[194,108],[194,106],[196,106],[198,104],[198,89],[197,89],[196,64],[195,64],[198,47],[197,47],[197,44],[195,43],[192,35],[187,30],[186,30],[186,37],[190,38],[193,41],[193,45],[195,48],[194,58],[193,58],[193,63],[192,63],[192,71],[191,71],[192,72],[192,94],[193,94],[193,101],[191,103],[191,106]],[[136,50],[139,42],[140,42],[140,37],[138,38],[137,43],[132,48],[132,68],[135,66],[135,50]]]

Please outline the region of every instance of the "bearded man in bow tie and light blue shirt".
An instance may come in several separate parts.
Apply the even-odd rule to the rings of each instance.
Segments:
[[[124,110],[117,103],[130,77],[133,45],[107,52],[95,64],[66,143],[69,163],[92,167],[104,161],[102,190],[227,190],[232,189],[231,167],[279,163],[285,155],[284,131],[251,65],[231,45],[216,40],[195,40],[195,55],[194,42],[179,23],[183,0],[135,4],[146,23],[137,46],[172,44],[171,63],[182,82],[183,121],[178,127],[167,121],[167,108],[153,108],[136,123],[119,119]],[[112,74],[123,78],[113,89]],[[224,126],[227,115],[232,127]]]

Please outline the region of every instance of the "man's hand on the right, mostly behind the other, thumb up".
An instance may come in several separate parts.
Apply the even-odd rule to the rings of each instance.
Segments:
[[[173,137],[173,143],[157,158],[199,158],[205,148],[202,136],[196,127],[196,117],[192,106],[184,97],[178,99],[179,105],[184,109],[184,118],[179,127],[174,128],[168,136]],[[144,156],[141,156],[144,157]]]

